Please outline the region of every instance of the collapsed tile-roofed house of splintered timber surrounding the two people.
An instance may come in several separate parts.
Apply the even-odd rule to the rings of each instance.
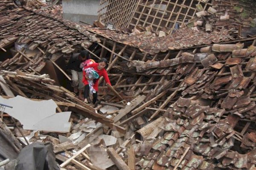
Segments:
[[[105,9],[109,12],[96,22],[99,28],[94,28],[2,0],[1,102],[24,100],[20,96],[33,102],[52,99],[56,114],[72,112],[71,116],[66,113],[70,117],[67,131],[51,129],[51,124],[61,122],[59,118],[48,124],[42,118],[37,121],[43,123],[27,127],[11,109],[6,109],[3,121],[13,124],[9,117],[13,114],[26,130],[41,130],[29,133],[28,143],[52,143],[60,167],[67,169],[255,169],[253,8],[239,0],[195,0],[191,6],[186,1],[179,5],[178,0],[161,0],[158,6],[154,2],[134,1],[127,9],[138,8],[141,16],[149,12],[148,19],[151,12],[164,16],[162,5],[170,5],[166,8],[167,14],[173,9],[170,29],[160,24],[159,31],[155,20],[148,23],[136,12],[118,25],[107,19],[116,15],[109,6]],[[172,8],[175,4],[180,8]],[[179,9],[182,12],[177,13]],[[183,17],[180,23],[186,26],[175,30],[179,15],[186,12],[189,20]],[[128,20],[135,24],[132,32],[124,29]],[[108,22],[123,29],[107,29]],[[76,98],[63,83],[70,77],[65,60],[81,49],[94,59],[109,59],[113,87],[100,80],[102,103],[97,108]],[[107,88],[111,92],[106,93]],[[20,125],[17,128],[26,133]],[[8,134],[13,153],[3,151],[3,159],[13,159],[22,148],[15,138],[22,135],[17,130],[15,136]]]

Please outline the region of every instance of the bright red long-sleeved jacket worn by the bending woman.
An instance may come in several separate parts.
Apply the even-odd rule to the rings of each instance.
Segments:
[[[86,68],[93,68],[98,74],[99,74],[99,77],[101,77],[101,76],[103,76],[104,77],[104,79],[105,79],[105,82],[106,83],[108,83],[108,84],[110,84],[111,85],[111,83],[110,83],[110,81],[109,81],[109,78],[108,78],[108,73],[107,73],[107,71],[106,71],[106,69],[105,68],[103,68],[102,70],[99,70],[98,69],[98,63],[93,63],[93,64],[91,64],[91,65],[87,65],[87,66],[85,66],[84,68],[83,68],[83,83],[84,83],[84,85],[88,85],[89,83],[88,83],[88,81],[87,81],[87,79],[85,78],[85,71],[84,71],[84,69],[86,69]],[[94,83],[94,85],[93,85],[93,88],[96,90],[96,91],[98,91],[98,81],[99,81],[99,79],[97,79],[96,80],[96,82]]]

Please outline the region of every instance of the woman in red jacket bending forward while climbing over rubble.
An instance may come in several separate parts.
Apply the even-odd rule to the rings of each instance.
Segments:
[[[105,66],[107,65],[107,63],[108,63],[108,60],[105,58],[102,58],[99,60],[99,63],[93,63],[93,64],[87,65],[83,68],[84,102],[85,103],[88,103],[87,98],[89,97],[89,91],[90,91],[89,82],[90,81],[93,81],[93,104],[96,103],[97,97],[98,97],[99,78],[91,79],[91,78],[87,77],[87,74],[84,70],[87,68],[93,68],[99,74],[99,77],[103,76],[105,79],[105,82],[108,83],[109,85],[111,85],[109,78],[108,78],[108,73],[105,69]]]

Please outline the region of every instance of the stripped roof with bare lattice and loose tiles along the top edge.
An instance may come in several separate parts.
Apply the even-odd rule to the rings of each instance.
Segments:
[[[227,29],[255,26],[255,8],[250,8],[255,6],[253,0],[101,0],[100,5],[101,21],[122,29],[152,26],[154,31],[167,29],[172,33],[185,24],[203,29],[207,23]]]

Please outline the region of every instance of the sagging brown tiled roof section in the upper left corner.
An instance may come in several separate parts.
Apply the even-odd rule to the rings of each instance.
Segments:
[[[0,48],[18,39],[19,43],[28,44],[29,49],[49,45],[47,52],[51,54],[57,51],[71,53],[74,46],[87,48],[95,41],[93,34],[84,29],[78,30],[79,25],[29,7],[17,8],[10,0],[0,3]]]

